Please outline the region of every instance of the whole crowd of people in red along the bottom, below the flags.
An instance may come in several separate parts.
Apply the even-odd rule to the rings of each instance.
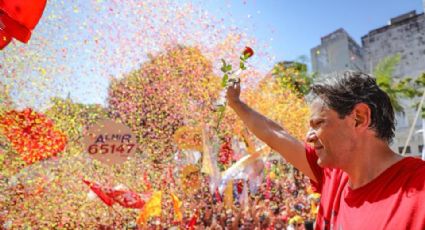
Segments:
[[[270,177],[271,171],[265,170],[263,183],[258,185],[256,191],[247,190],[248,199],[242,198],[242,187],[248,184],[242,183],[242,180],[233,182],[231,204],[226,203],[224,194],[219,195],[218,192],[210,191],[209,177],[204,174],[199,174],[201,184],[194,193],[187,193],[181,187],[164,183],[165,176],[151,180],[153,189],[161,189],[163,192],[161,215],[149,218],[145,225],[137,223],[138,211],[133,210],[132,215],[127,215],[122,212],[124,209],[121,211],[110,209],[110,213],[104,213],[108,218],[96,216],[97,214],[90,216],[90,213],[86,218],[73,218],[67,214],[69,210],[61,209],[51,214],[55,216],[53,219],[44,217],[50,218],[44,222],[42,213],[39,216],[27,213],[22,215],[20,220],[10,220],[7,218],[7,212],[12,209],[11,200],[2,200],[4,205],[0,223],[5,229],[28,226],[28,223],[31,227],[45,226],[57,229],[312,229],[319,197],[317,193],[311,191],[308,178],[281,161],[274,160],[270,163],[274,169],[273,176]],[[22,197],[26,197],[23,186],[18,184],[12,189],[9,197],[14,198],[13,206],[22,206]],[[181,220],[175,216],[173,201],[169,196],[171,192],[182,202]],[[76,194],[75,199],[77,196]],[[34,199],[35,202],[43,198],[35,196],[30,199]],[[102,204],[97,198],[87,202]]]

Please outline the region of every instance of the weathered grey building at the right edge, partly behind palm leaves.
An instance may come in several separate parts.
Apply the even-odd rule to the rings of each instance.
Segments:
[[[404,77],[416,78],[425,72],[425,15],[411,11],[392,18],[388,25],[374,29],[363,36],[362,45],[368,72],[372,72],[376,64],[385,57],[399,54],[400,62],[396,66],[394,77],[397,80]],[[417,101],[402,101],[405,113],[396,115],[396,137],[392,148],[397,152],[402,151],[413,124],[416,111],[412,106],[415,102]],[[419,120],[415,129],[420,129],[421,126],[422,122]],[[419,154],[423,146],[422,134],[414,134],[407,153]]]

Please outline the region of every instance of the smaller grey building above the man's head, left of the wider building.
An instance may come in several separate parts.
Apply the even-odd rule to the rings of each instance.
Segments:
[[[310,52],[313,72],[319,77],[347,69],[366,70],[362,47],[342,28],[322,37]]]

